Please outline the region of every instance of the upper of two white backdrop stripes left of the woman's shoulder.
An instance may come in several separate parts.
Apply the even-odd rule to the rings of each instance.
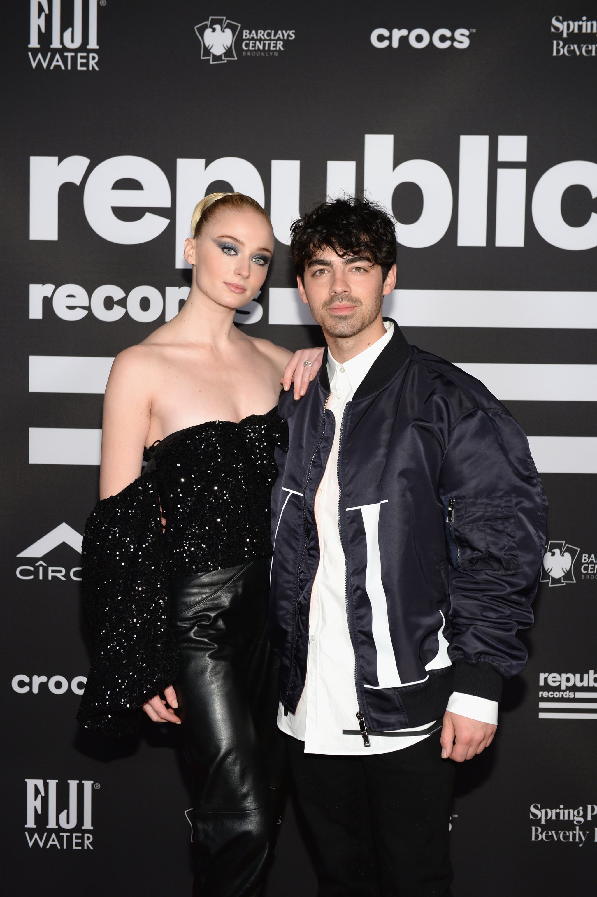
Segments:
[[[30,355],[29,391],[103,394],[112,361],[77,355]]]

